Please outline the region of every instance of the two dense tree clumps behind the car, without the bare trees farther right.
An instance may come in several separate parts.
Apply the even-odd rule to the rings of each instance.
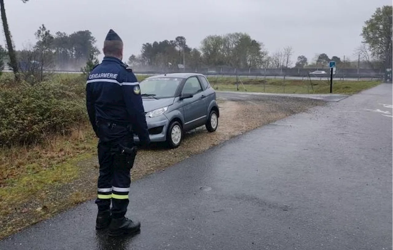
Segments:
[[[144,43],[141,54],[132,54],[128,60],[132,67],[155,69],[172,69],[184,65],[193,69],[206,65],[260,68],[267,62],[264,44],[246,33],[207,36],[199,49],[189,47],[184,36],[177,36],[174,40]]]

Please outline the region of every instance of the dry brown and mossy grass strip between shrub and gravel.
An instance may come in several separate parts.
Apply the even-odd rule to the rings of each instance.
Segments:
[[[91,157],[96,139],[87,125],[71,136],[50,137],[44,145],[13,147],[0,151],[0,216],[51,187],[79,177],[75,162]],[[22,208],[23,209],[23,208]]]

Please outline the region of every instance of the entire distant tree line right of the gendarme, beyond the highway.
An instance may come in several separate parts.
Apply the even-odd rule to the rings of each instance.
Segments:
[[[288,69],[288,68],[328,68],[330,61],[338,68],[380,69],[383,60],[374,56],[367,44],[356,48],[350,56],[329,57],[326,53],[316,54],[314,58],[299,55],[293,58],[291,46],[269,53],[262,42],[257,42],[246,33],[210,35],[204,38],[200,48],[191,48],[184,36],[174,40],[144,43],[139,55],[132,54],[128,64],[135,69],[176,69],[187,70],[202,67],[231,67],[238,69]],[[351,58],[353,58],[353,60]]]

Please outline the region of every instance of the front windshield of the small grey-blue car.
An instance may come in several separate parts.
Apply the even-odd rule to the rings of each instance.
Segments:
[[[181,78],[151,78],[140,83],[141,95],[154,96],[155,98],[174,97]]]

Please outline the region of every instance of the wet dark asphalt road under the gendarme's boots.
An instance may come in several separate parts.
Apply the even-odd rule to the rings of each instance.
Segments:
[[[392,113],[380,85],[135,181],[132,238],[96,234],[91,201],[0,249],[393,249]]]

